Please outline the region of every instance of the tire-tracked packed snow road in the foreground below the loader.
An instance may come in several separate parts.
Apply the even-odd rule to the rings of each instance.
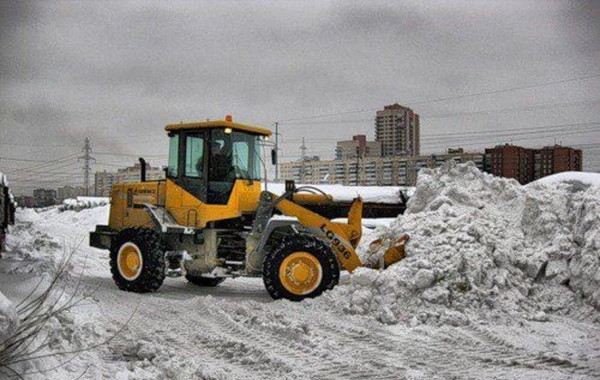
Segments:
[[[121,292],[108,279],[84,281],[88,286],[81,292],[95,291],[89,302],[53,326],[56,352],[93,346],[118,331],[116,338],[76,356],[40,360],[30,372],[68,363],[31,378],[67,379],[81,373],[89,379],[600,376],[600,329],[573,320],[388,326],[320,305],[269,301],[260,280],[228,281],[213,291],[172,280],[152,295]],[[13,274],[0,285],[26,289],[33,283]]]

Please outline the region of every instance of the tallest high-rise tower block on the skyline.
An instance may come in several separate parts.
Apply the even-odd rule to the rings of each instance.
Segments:
[[[398,103],[377,111],[375,140],[381,142],[381,153],[390,156],[419,156],[421,136],[419,115]]]

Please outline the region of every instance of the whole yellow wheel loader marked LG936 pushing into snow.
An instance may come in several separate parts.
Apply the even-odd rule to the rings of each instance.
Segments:
[[[153,292],[166,276],[184,275],[200,286],[262,276],[273,298],[299,301],[332,289],[341,269],[363,266],[355,252],[362,233],[360,198],[334,202],[291,181],[281,196],[262,191],[260,147],[271,131],[230,117],[165,129],[166,178],[146,181],[141,158],[141,181],[113,185],[109,224],[90,233],[91,246],[110,250],[120,289]],[[369,210],[395,216],[404,203]],[[348,222],[332,222],[335,216]],[[387,244],[385,255],[369,265],[401,260],[405,241],[378,241]]]

